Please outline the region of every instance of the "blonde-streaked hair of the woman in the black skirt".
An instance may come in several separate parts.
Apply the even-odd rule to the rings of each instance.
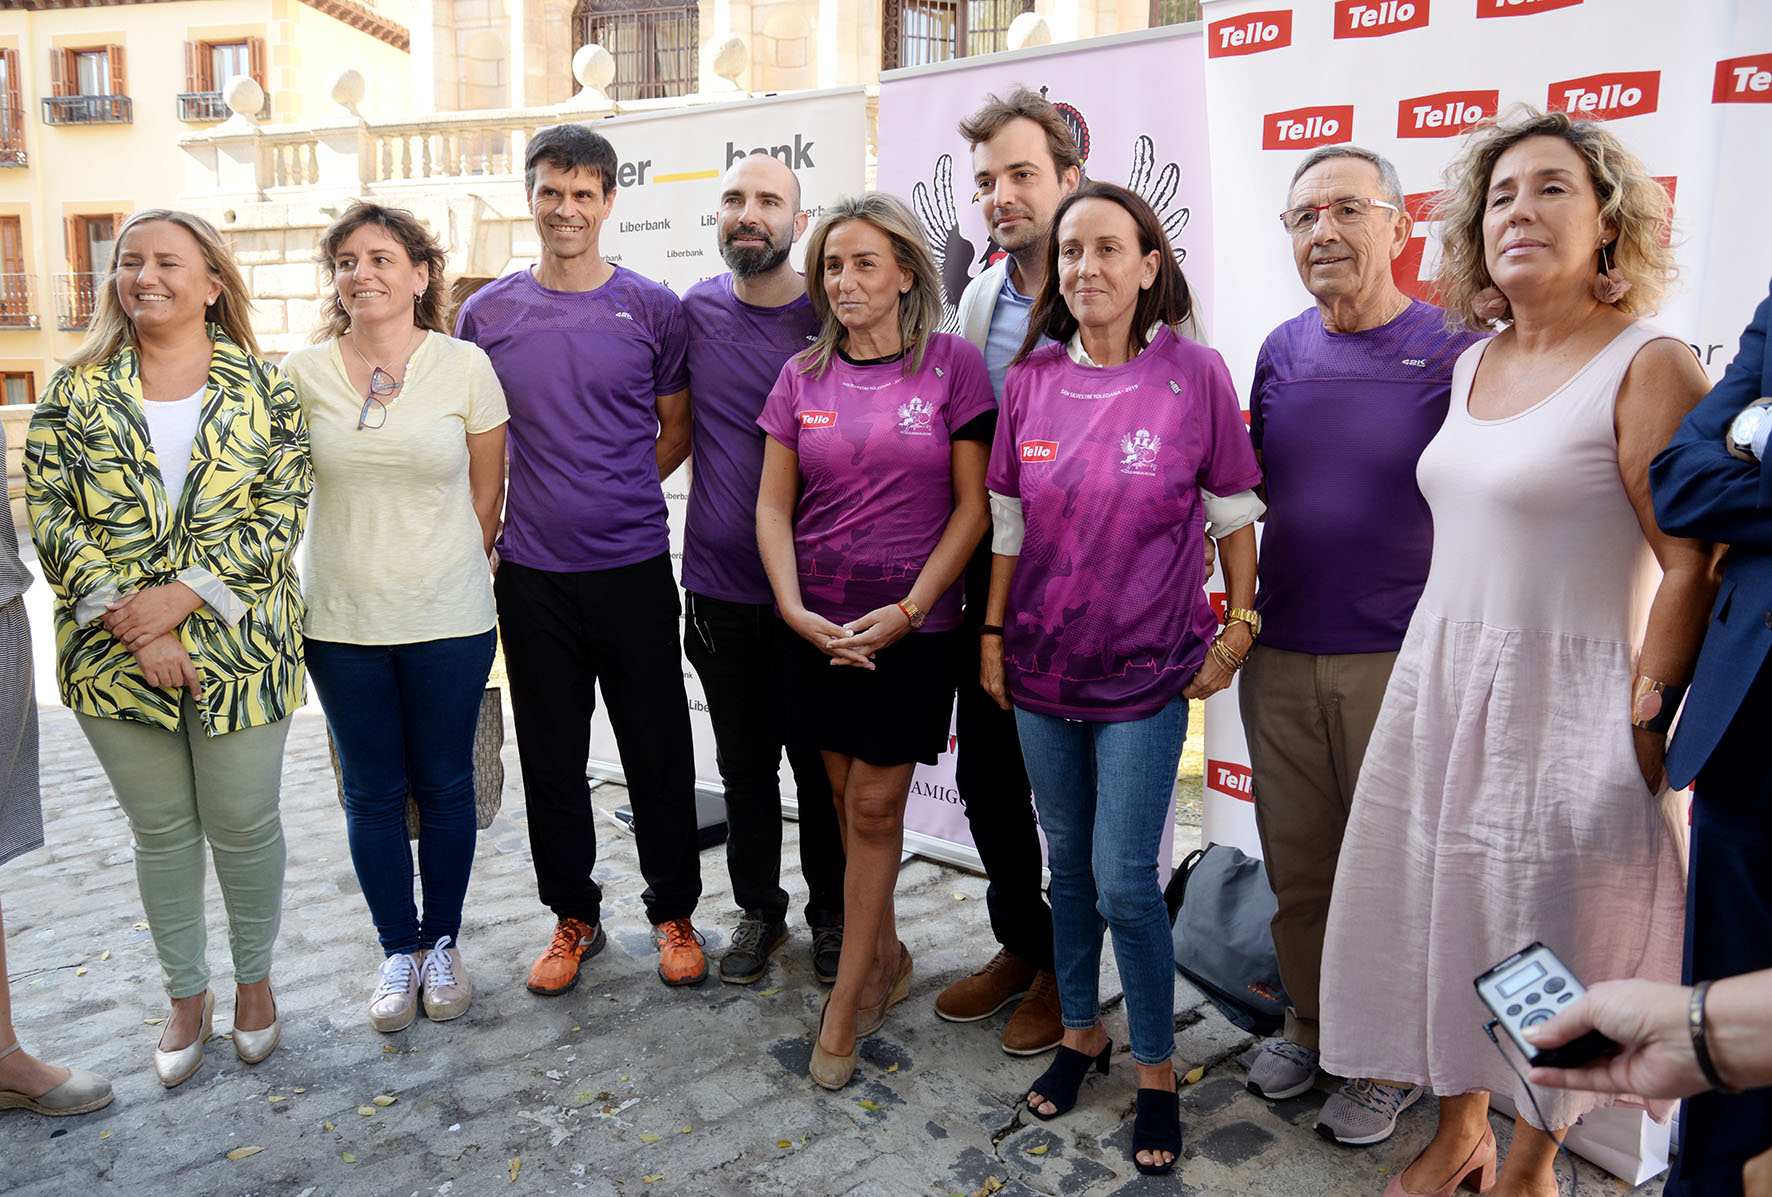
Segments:
[[[845,195],[831,204],[829,211],[819,218],[806,237],[806,297],[812,299],[812,312],[819,317],[819,338],[803,352],[797,361],[801,374],[819,377],[831,365],[831,354],[843,342],[849,331],[831,299],[824,294],[824,243],[831,230],[852,220],[867,223],[886,234],[891,241],[893,260],[911,271],[911,290],[898,296],[898,335],[904,338],[904,375],[911,377],[923,368],[923,351],[929,338],[941,328],[941,276],[936,273],[936,259],[923,241],[923,228],[916,212],[895,195],[868,191],[867,195]]]

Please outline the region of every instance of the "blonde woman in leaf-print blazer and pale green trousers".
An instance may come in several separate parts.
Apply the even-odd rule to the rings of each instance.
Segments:
[[[294,551],[314,471],[301,404],[257,358],[248,310],[209,221],[138,212],[25,446],[57,678],[129,816],[172,999],[154,1050],[168,1089],[202,1068],[214,1013],[206,843],[227,901],[234,1052],[255,1064],[282,1038],[278,799],[303,698]]]

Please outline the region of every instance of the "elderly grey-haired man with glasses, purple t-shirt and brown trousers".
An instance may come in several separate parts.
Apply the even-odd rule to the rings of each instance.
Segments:
[[[1391,280],[1411,220],[1396,168],[1356,145],[1299,163],[1281,214],[1317,301],[1255,361],[1249,434],[1265,476],[1260,641],[1239,701],[1255,818],[1279,900],[1274,949],[1292,1008],[1249,1087],[1292,1098],[1317,1080],[1317,990],[1341,832],[1391,664],[1421,597],[1434,522],[1416,460],[1446,418],[1471,333]],[[1352,1078],[1317,1119],[1343,1144],[1382,1142],[1419,1085]]]

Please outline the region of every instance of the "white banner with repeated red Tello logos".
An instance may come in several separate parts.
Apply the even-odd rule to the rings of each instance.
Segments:
[[[1205,0],[1214,345],[1246,388],[1255,354],[1310,306],[1276,214],[1299,158],[1354,142],[1402,174],[1418,218],[1474,120],[1515,101],[1602,117],[1675,198],[1680,282],[1655,322],[1715,379],[1765,296],[1772,250],[1772,5],[1765,0]],[[1432,299],[1434,225],[1393,266]],[[1217,583],[1216,583],[1217,586]],[[1258,850],[1235,692],[1207,701],[1209,839]],[[1226,829],[1247,829],[1240,839]],[[1667,1126],[1598,1110],[1570,1149],[1630,1183],[1667,1165]]]

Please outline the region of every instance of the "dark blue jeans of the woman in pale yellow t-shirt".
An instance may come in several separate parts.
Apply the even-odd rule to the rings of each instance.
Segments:
[[[416,645],[308,639],[308,676],[344,774],[351,864],[388,956],[461,935],[477,834],[473,733],[496,643],[491,629]],[[408,786],[418,804],[424,923],[413,903]]]

